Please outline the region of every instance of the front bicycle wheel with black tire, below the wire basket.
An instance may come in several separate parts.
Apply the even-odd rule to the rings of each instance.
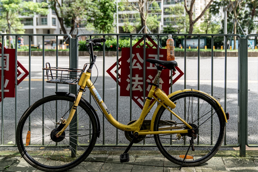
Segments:
[[[91,153],[97,138],[97,121],[82,101],[77,107],[77,117],[73,117],[74,121],[59,140],[55,134],[53,136],[56,130],[51,135],[59,125],[56,122],[62,116],[68,118],[73,102],[74,98],[69,96],[47,96],[32,104],[22,115],[17,126],[17,146],[31,166],[43,171],[67,171]],[[26,137],[29,140],[26,141]]]

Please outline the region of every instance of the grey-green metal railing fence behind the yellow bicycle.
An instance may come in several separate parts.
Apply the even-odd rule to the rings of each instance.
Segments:
[[[4,36],[2,34],[2,42]],[[45,83],[44,73],[42,67],[45,67],[45,62],[51,62],[54,66],[80,68],[84,63],[90,61],[87,54],[78,51],[79,40],[85,38],[105,37],[107,40],[114,39],[116,51],[111,54],[105,51],[107,47],[103,43],[103,53],[98,56],[96,65],[98,75],[93,75],[92,80],[95,82],[95,87],[100,90],[103,101],[108,106],[109,110],[116,116],[116,119],[122,123],[128,123],[131,120],[139,117],[141,109],[132,101],[132,91],[130,97],[119,96],[119,59],[121,58],[121,46],[123,40],[130,40],[130,54],[127,54],[130,61],[132,61],[133,41],[143,37],[143,60],[147,59],[146,51],[151,44],[150,38],[154,40],[157,47],[164,47],[164,40],[167,39],[167,34],[88,34],[77,35],[76,38],[71,38],[70,35],[12,35],[15,36],[15,73],[20,72],[17,69],[17,60],[24,65],[29,71],[28,77],[17,85],[17,78],[15,75],[15,98],[5,98],[1,102],[1,147],[15,147],[15,131],[17,122],[23,112],[36,100],[47,95],[54,94],[55,91],[66,91],[76,93],[76,86],[63,86],[58,84]],[[28,54],[21,54],[18,48],[18,36],[28,37]],[[37,36],[42,39],[42,50],[33,55],[31,52],[31,37]],[[63,52],[61,50],[54,50],[49,52],[45,49],[44,40],[48,36],[55,36],[58,43],[58,37],[68,37],[69,51]],[[184,73],[176,83],[170,86],[170,92],[178,89],[194,88],[209,93],[220,101],[225,111],[230,113],[230,120],[226,126],[226,136],[224,145],[221,149],[240,149],[240,155],[245,156],[246,147],[258,147],[257,132],[255,131],[255,122],[257,114],[257,97],[258,97],[258,51],[254,48],[248,50],[249,39],[257,37],[258,35],[247,35],[241,37],[240,35],[221,35],[221,34],[174,34],[174,40],[182,40],[183,47],[180,52],[175,53],[175,60],[178,62],[179,68]],[[233,38],[236,38],[238,43],[235,45],[237,50],[229,50],[232,45]],[[228,45],[224,45],[222,51],[221,45],[216,44],[217,40],[226,40]],[[204,44],[208,45],[208,50],[201,51]],[[176,45],[179,45],[178,43]],[[191,49],[188,45],[192,45]],[[197,45],[197,46],[196,46]],[[83,45],[80,45],[83,46]],[[157,56],[159,57],[160,49],[157,49]],[[215,47],[215,49],[213,48]],[[250,46],[249,46],[250,47]],[[195,48],[197,51],[192,51]],[[108,48],[107,48],[108,49]],[[3,50],[3,49],[2,49]],[[42,53],[42,54],[41,54]],[[4,57],[2,51],[2,57]],[[123,57],[123,53],[122,53]],[[1,59],[1,69],[4,68],[4,58]],[[130,64],[132,70],[132,62]],[[143,63],[145,65],[145,63]],[[251,68],[248,66],[251,66]],[[112,68],[113,78],[107,73],[107,70]],[[144,67],[145,69],[145,67]],[[144,71],[146,72],[146,71]],[[93,72],[94,73],[94,72]],[[171,73],[172,74],[172,73]],[[4,83],[4,73],[1,73],[1,83]],[[114,79],[115,78],[115,79]],[[144,78],[145,80],[147,78]],[[171,77],[171,79],[173,79]],[[130,78],[130,86],[132,87],[132,78]],[[143,88],[146,88],[143,85]],[[4,90],[4,84],[1,85],[1,90]],[[102,92],[101,92],[102,90]],[[1,97],[4,94],[1,92]],[[91,103],[91,96],[85,92],[84,98]],[[142,102],[144,103],[144,102]],[[94,104],[94,103],[93,103]],[[125,146],[128,141],[124,139],[123,131],[115,130],[105,119],[102,113],[94,105],[100,117],[102,124],[101,137],[97,140],[97,146]],[[143,141],[134,146],[155,146],[153,141]]]

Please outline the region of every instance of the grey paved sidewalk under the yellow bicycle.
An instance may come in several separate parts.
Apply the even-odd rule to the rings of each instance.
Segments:
[[[77,167],[69,170],[119,171],[119,172],[174,172],[179,165],[168,161],[158,151],[129,151],[130,162],[120,163],[122,151],[92,151],[89,157]],[[196,167],[183,167],[182,172],[239,171],[258,172],[258,151],[246,151],[246,157],[239,157],[239,151],[219,151],[211,160]],[[0,152],[0,171],[39,172],[21,157],[18,151]]]

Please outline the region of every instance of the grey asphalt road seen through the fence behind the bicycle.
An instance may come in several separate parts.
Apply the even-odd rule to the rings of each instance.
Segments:
[[[112,64],[116,62],[116,57],[105,57],[104,71],[106,71]],[[179,57],[175,59],[178,62],[178,66],[184,71],[184,58]],[[28,57],[18,56],[18,61],[23,64],[26,69],[29,69]],[[55,57],[45,57],[45,62],[50,62],[51,66],[55,66]],[[84,63],[88,63],[88,57],[79,57],[79,67],[83,68]],[[69,67],[69,59],[67,57],[58,58],[59,67]],[[104,72],[103,76],[103,58],[99,57],[95,63],[98,68],[98,78],[94,84],[102,99],[105,101],[111,114],[116,117],[116,103],[118,101],[118,121],[127,124],[131,119],[137,119],[139,117],[141,109],[132,102],[132,108],[130,108],[130,97],[119,96],[116,98],[116,82]],[[258,134],[256,132],[257,124],[257,99],[258,99],[258,59],[248,58],[248,143],[256,144]],[[197,82],[197,66],[198,59],[196,57],[190,57],[186,59],[186,86],[184,86],[184,76],[181,77],[174,85],[173,91],[178,89],[194,88],[198,89]],[[227,144],[238,143],[238,59],[237,57],[227,58],[227,89],[226,89],[226,104],[225,104],[225,58],[214,57],[214,71],[213,71],[213,96],[220,101],[225,111],[230,112],[230,119],[227,124],[226,130],[226,142]],[[17,86],[17,120],[20,119],[22,113],[29,107],[29,104],[36,100],[54,94],[55,90],[69,92],[68,85],[58,84],[56,88],[55,84],[44,83],[44,95],[42,93],[42,57],[31,57],[31,92],[29,95],[29,81],[28,77]],[[97,76],[96,69],[93,70],[93,81]],[[200,73],[199,73],[199,89],[201,91],[211,94],[211,58],[200,58]],[[104,85],[104,89],[103,89]],[[118,88],[119,91],[119,88]],[[104,92],[104,94],[103,94]],[[31,98],[29,102],[29,96]],[[89,100],[89,93],[86,91],[84,95],[86,100]],[[8,142],[15,142],[15,103],[14,98],[4,99],[4,113],[3,113],[3,131],[1,127],[1,140],[3,135],[3,144]],[[226,108],[225,108],[226,105]],[[1,108],[1,107],[0,107]],[[116,144],[116,137],[118,137],[118,143],[128,144],[128,141],[124,137],[122,131],[118,131],[116,135],[116,129],[104,119],[100,110],[94,105],[101,122],[101,136],[97,140],[99,144]],[[132,114],[130,117],[130,110]],[[13,144],[12,143],[12,144]]]

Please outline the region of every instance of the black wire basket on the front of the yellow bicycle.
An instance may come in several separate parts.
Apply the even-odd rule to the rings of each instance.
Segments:
[[[86,64],[85,64],[86,65]],[[84,65],[84,69],[86,66]],[[50,63],[46,63],[46,76],[47,83],[57,83],[57,84],[72,84],[76,85],[80,78],[81,73],[84,69],[71,69],[71,68],[57,68],[50,67]]]

